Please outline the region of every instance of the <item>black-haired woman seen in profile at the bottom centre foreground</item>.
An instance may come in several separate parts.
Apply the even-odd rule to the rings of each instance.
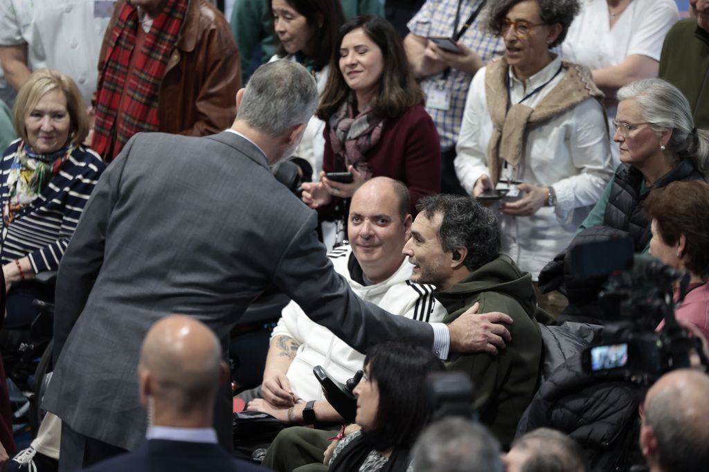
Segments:
[[[355,422],[362,427],[340,440],[330,471],[406,471],[408,451],[428,424],[426,376],[445,370],[440,359],[422,347],[398,342],[379,344],[364,359]]]

